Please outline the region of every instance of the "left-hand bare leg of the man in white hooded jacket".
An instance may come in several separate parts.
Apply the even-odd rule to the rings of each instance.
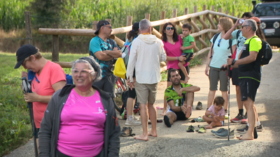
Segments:
[[[134,137],[134,139],[148,141],[148,109],[147,109],[147,104],[144,104],[144,103],[140,104],[140,116],[141,116],[143,134],[139,135],[137,137]]]

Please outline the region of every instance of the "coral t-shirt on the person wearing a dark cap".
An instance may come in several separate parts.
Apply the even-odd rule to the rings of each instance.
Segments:
[[[40,75],[36,73],[35,76],[40,83],[38,83],[34,77],[32,81],[32,91],[40,96],[52,96],[52,94],[55,93],[55,90],[52,89],[52,85],[59,81],[66,81],[66,76],[62,67],[52,61],[48,61],[41,70]],[[33,102],[36,128],[40,128],[47,105],[48,103]]]

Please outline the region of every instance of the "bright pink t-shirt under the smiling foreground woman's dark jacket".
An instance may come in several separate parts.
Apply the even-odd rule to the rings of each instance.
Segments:
[[[72,89],[60,116],[57,149],[68,156],[99,154],[104,144],[105,112],[98,91],[83,97]]]

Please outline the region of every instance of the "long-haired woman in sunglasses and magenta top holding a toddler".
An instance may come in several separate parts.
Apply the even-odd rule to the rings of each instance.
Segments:
[[[178,35],[176,27],[171,22],[167,22],[162,28],[162,42],[164,44],[165,52],[167,53],[167,69],[176,68],[179,70],[181,75],[181,82],[185,81],[185,75],[179,68],[179,61],[186,60],[186,57],[181,56],[183,53],[180,49],[183,45],[181,36]],[[192,57],[193,59],[193,57]],[[188,73],[190,73],[189,63],[185,63],[183,66],[186,67]],[[167,78],[167,87],[171,86],[172,82]],[[164,100],[164,107],[161,115],[164,116],[167,112],[167,102]]]

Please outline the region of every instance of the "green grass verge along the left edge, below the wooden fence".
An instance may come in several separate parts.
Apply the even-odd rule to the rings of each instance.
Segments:
[[[74,61],[85,54],[59,54],[60,61]],[[43,53],[51,59],[51,53]],[[29,111],[20,88],[20,73],[14,69],[15,54],[0,52],[0,156],[19,147],[32,137]],[[65,68],[69,73],[69,68]]]

